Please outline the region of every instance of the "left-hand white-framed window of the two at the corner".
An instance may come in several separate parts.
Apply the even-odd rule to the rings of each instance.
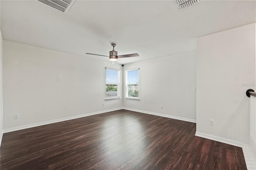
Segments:
[[[106,68],[106,99],[120,98],[120,71]]]

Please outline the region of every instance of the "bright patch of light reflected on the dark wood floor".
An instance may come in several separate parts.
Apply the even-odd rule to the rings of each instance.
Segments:
[[[144,127],[134,116],[113,116],[104,122],[102,145],[106,147],[107,161],[132,159],[140,155],[146,146]],[[125,148],[125,149],[124,149]]]

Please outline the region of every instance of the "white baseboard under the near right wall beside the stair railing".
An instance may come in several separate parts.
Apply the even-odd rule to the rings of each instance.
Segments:
[[[231,145],[238,146],[238,147],[241,147],[241,148],[246,148],[247,147],[247,144],[244,144],[244,143],[241,143],[241,142],[237,142],[235,140],[230,140],[230,139],[227,139],[227,138],[213,136],[213,135],[210,135],[210,134],[196,132],[195,136],[199,136],[199,137],[210,139],[210,140],[215,140],[217,142],[231,144]]]

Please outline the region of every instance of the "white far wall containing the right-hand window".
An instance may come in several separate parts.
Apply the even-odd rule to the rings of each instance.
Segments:
[[[196,51],[124,65],[134,68],[140,68],[140,100],[123,99],[124,108],[195,122]]]

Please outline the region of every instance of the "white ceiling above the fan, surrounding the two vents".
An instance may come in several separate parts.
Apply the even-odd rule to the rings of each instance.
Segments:
[[[196,38],[256,22],[256,1],[203,0],[183,11],[174,1],[77,0],[68,13],[37,0],[1,0],[4,40],[108,60],[110,43],[126,64],[196,50]]]

